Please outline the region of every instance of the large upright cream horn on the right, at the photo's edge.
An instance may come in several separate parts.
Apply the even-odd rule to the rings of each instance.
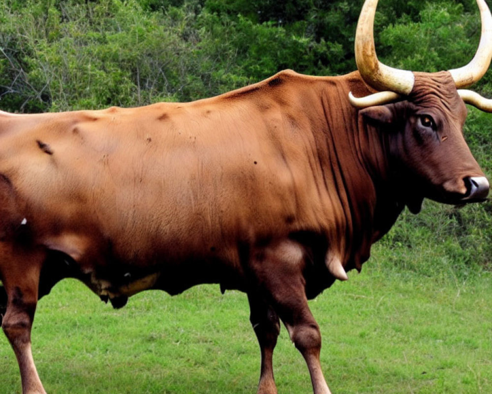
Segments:
[[[485,0],[477,0],[482,20],[482,35],[477,53],[466,66],[449,70],[457,88],[477,82],[489,69],[492,60],[492,15]]]

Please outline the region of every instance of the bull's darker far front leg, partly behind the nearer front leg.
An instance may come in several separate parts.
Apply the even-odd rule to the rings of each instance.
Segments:
[[[251,325],[253,326],[261,351],[261,374],[258,394],[277,394],[272,357],[277,337],[280,333],[280,321],[277,313],[258,295],[248,294]]]

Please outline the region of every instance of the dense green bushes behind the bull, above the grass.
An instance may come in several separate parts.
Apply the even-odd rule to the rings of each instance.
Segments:
[[[355,69],[362,2],[0,0],[0,107],[40,112],[187,101],[287,67],[342,74]],[[478,45],[477,6],[381,0],[375,36],[389,65],[459,67]],[[474,89],[492,97],[492,73]],[[490,114],[470,109],[465,127],[488,175],[491,123]],[[464,275],[491,268],[491,212],[490,202],[463,209],[427,202],[421,215],[405,213],[380,248],[388,261],[411,270],[447,264]]]

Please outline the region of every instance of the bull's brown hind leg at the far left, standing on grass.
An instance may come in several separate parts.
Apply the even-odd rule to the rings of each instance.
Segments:
[[[2,328],[14,350],[22,381],[23,394],[46,394],[36,371],[31,351],[31,327],[36,310],[39,272],[43,257],[0,249],[2,280],[7,307]],[[14,247],[15,248],[15,247]],[[7,250],[10,249],[10,250]]]

